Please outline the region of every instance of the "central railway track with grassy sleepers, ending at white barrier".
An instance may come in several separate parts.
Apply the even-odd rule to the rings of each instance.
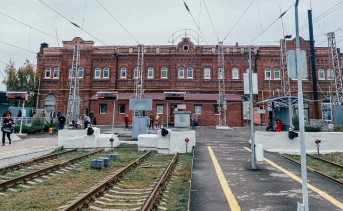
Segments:
[[[178,154],[170,159],[170,156],[150,153],[118,170],[60,209],[152,210],[177,164]]]

